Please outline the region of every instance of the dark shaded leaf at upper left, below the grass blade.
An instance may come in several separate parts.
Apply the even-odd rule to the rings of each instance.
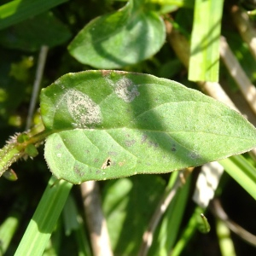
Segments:
[[[43,44],[49,47],[63,44],[70,37],[67,27],[48,12],[0,31],[0,44],[6,48],[34,51]]]

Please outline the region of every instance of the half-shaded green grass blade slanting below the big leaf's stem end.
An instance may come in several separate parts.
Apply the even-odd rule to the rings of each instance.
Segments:
[[[72,186],[73,184],[66,181],[56,182],[54,177],[50,178],[38,208],[20,241],[16,256],[42,255]]]

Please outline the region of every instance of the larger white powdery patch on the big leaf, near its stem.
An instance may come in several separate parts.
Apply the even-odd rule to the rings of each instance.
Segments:
[[[78,128],[102,122],[101,108],[89,96],[79,90],[67,91],[67,109]]]

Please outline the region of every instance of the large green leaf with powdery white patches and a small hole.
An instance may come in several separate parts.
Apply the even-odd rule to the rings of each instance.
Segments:
[[[163,173],[240,154],[256,130],[177,82],[120,71],[69,73],[42,90],[45,159],[72,183]]]

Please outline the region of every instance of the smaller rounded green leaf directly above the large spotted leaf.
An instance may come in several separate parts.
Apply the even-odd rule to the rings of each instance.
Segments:
[[[166,30],[159,15],[129,1],[102,15],[79,32],[68,50],[78,61],[97,68],[118,68],[143,61],[164,44]]]

